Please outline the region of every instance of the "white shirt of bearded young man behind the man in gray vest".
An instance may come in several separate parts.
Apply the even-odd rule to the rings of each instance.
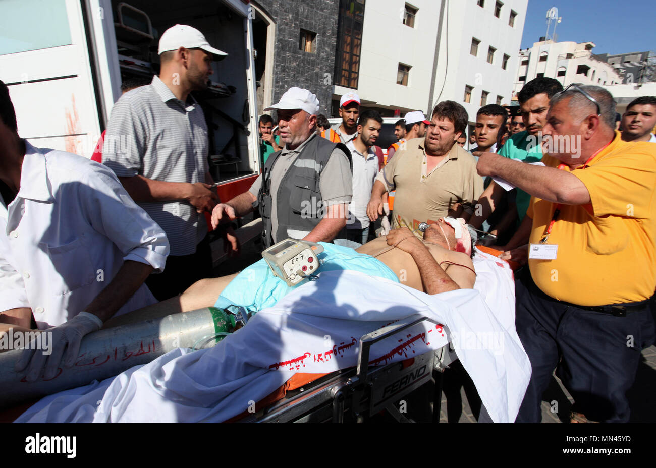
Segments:
[[[359,153],[353,140],[346,147],[351,151],[353,161],[353,198],[348,206],[346,229],[365,229],[369,227],[367,203],[371,199],[373,182],[378,174],[378,157],[371,147],[367,148],[365,155]]]

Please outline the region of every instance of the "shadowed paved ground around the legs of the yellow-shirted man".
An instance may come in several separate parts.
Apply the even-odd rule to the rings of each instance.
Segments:
[[[448,393],[448,392],[447,392]],[[451,413],[452,419],[457,417],[460,423],[475,423],[476,418],[472,414],[464,387],[460,391],[462,403],[458,405],[458,395],[451,395],[451,404],[447,397],[442,393],[440,422],[447,422],[447,412]],[[542,422],[543,423],[561,423],[569,422],[569,410],[573,401],[567,390],[562,386],[560,380],[554,376],[552,385],[546,391],[542,402]],[[628,400],[631,405],[630,422],[653,423],[656,422],[656,347],[651,346],[642,351],[642,362],[638,366],[638,375],[632,389],[628,392]],[[552,407],[556,408],[558,403],[558,412],[552,412]],[[461,406],[462,409],[457,408]]]

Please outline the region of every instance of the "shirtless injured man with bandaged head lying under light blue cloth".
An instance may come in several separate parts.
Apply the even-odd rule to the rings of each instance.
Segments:
[[[473,244],[461,220],[441,218],[428,225],[423,240],[403,227],[359,247],[355,252],[361,255],[354,254],[350,248],[323,244],[325,254],[319,254],[319,260],[323,262],[321,271],[356,269],[428,294],[438,294],[474,287]],[[110,319],[104,328],[212,305],[247,305],[239,302],[241,288],[258,288],[257,296],[263,301],[258,304],[260,307],[274,305],[275,300],[292,289],[274,277],[266,262],[260,260],[241,273],[197,281],[180,296]]]

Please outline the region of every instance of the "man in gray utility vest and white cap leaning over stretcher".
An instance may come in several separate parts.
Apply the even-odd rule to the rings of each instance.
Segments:
[[[283,149],[270,155],[249,191],[216,205],[212,226],[257,208],[266,247],[287,237],[330,242],[345,237],[352,197],[350,151],[316,134],[317,96],[289,88],[276,109]]]

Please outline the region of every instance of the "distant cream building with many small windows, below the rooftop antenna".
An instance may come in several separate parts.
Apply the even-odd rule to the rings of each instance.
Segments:
[[[619,71],[595,54],[594,43],[554,42],[533,43],[530,49],[520,50],[513,94],[537,77],[555,78],[563,86],[571,83],[584,85],[617,85],[622,83]]]

